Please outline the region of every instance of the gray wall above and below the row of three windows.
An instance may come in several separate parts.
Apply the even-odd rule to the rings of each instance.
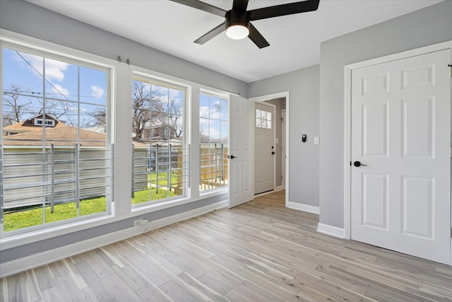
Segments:
[[[225,76],[177,57],[172,57],[164,52],[145,47],[124,37],[119,37],[100,28],[75,21],[23,0],[0,1],[0,28],[54,42],[58,45],[71,47],[76,50],[90,52],[109,59],[116,59],[120,55],[124,60],[130,59],[131,64],[135,66],[158,71],[169,76],[176,76],[180,79],[193,81],[224,91],[239,93],[240,95],[248,94],[248,84],[243,81],[233,79],[230,76]],[[118,148],[119,146],[117,146]],[[179,207],[156,211],[143,215],[142,217],[153,221],[198,207],[204,207],[225,199],[227,199],[227,194],[184,204]],[[2,250],[0,262],[4,263],[20,259],[20,257],[33,255],[37,252],[44,252],[69,243],[76,243],[81,240],[119,231],[132,226],[132,221],[135,219],[137,218],[124,219],[85,231]]]

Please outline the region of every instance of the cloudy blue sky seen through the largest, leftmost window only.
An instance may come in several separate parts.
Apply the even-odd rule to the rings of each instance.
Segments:
[[[107,73],[88,66],[78,66],[61,59],[43,58],[41,55],[9,48],[3,51],[3,89],[20,87],[19,105],[23,105],[20,120],[37,115],[42,110],[42,97],[51,98],[55,115],[63,122],[81,126],[93,123],[92,114],[105,108],[107,100]],[[47,104],[50,106],[50,103]],[[4,111],[11,110],[4,102]],[[63,113],[66,112],[65,115]]]

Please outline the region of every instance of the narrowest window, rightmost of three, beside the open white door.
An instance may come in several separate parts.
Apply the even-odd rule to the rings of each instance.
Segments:
[[[227,100],[201,93],[200,127],[200,191],[227,185],[229,141],[229,105]]]

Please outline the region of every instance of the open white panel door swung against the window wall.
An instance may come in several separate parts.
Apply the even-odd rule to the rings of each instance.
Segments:
[[[254,199],[254,102],[230,95],[229,207]]]

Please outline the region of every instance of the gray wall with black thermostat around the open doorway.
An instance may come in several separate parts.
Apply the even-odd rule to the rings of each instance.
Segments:
[[[249,84],[249,97],[290,92],[289,201],[319,207],[319,71],[314,65]],[[307,142],[302,142],[307,134]],[[322,138],[321,138],[322,144]]]

